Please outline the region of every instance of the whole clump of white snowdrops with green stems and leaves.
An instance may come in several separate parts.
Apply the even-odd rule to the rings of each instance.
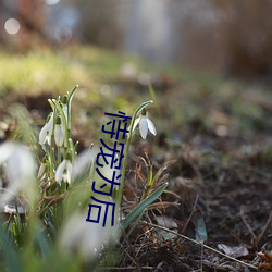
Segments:
[[[152,189],[128,214],[123,214],[122,193],[133,132],[139,127],[143,138],[148,131],[157,134],[146,110],[152,101],[146,101],[132,116],[120,186],[109,197],[115,201],[114,226],[86,222],[94,195],[91,183],[100,178],[94,171],[98,148],[91,146],[77,153],[78,143],[71,137],[75,91],[76,87],[62,97],[48,100],[51,112],[37,143],[30,147],[17,141],[0,145],[0,208],[10,214],[8,220],[1,219],[0,255],[4,257],[0,259],[0,269],[82,271],[86,267],[109,264],[109,259],[110,264],[114,264],[114,257],[104,258],[108,249],[122,242],[121,237],[123,242],[128,238],[146,208],[168,186],[166,183],[157,188],[151,186],[154,178],[149,176],[148,188]],[[112,170],[106,166],[103,171],[110,175]]]

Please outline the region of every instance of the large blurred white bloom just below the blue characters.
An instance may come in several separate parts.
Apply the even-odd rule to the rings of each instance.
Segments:
[[[86,222],[86,214],[77,212],[63,225],[59,246],[64,252],[77,254],[86,261],[94,261],[99,258],[102,246],[113,238],[114,230]]]

